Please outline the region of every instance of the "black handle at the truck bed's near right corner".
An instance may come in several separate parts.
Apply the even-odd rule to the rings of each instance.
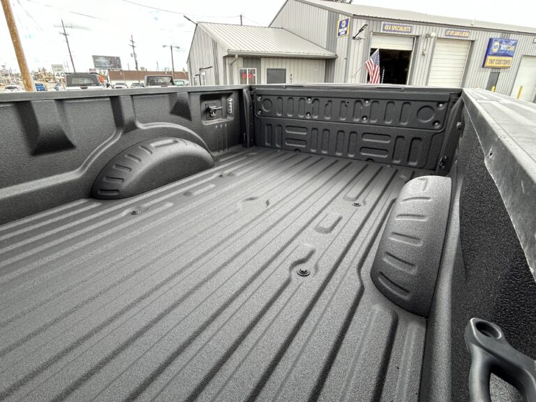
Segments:
[[[471,354],[471,401],[491,402],[491,373],[514,385],[526,401],[536,401],[536,362],[514,349],[498,325],[471,318],[466,327],[465,338]]]

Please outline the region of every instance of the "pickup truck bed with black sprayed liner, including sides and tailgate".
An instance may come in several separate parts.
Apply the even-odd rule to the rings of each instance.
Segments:
[[[536,107],[0,94],[0,400],[535,396]]]

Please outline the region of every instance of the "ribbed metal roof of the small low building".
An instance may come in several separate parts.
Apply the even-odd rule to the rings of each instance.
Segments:
[[[198,27],[223,46],[228,55],[334,59],[337,55],[282,28],[200,22]]]

